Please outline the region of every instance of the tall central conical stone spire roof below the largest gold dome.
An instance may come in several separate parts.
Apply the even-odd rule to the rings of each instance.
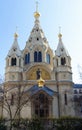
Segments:
[[[26,42],[25,48],[32,49],[35,47],[35,45],[44,46],[44,49],[45,49],[45,47],[46,48],[49,47],[49,43],[47,41],[47,38],[45,37],[45,34],[40,26],[39,17],[38,18],[35,17],[34,26],[32,28],[30,36]]]

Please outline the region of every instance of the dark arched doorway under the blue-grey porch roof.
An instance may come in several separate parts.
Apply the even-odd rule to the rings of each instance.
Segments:
[[[33,113],[37,117],[49,117],[50,100],[43,92],[38,93],[33,98]]]

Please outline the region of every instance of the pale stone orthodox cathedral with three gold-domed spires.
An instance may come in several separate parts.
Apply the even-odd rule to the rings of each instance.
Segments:
[[[62,42],[62,34],[58,35],[58,46],[53,53],[37,10],[34,18],[25,48],[20,50],[15,33],[6,56],[4,88],[11,99],[12,111],[16,109],[15,98],[20,90],[20,95],[23,93],[21,117],[74,116],[71,57]],[[4,113],[8,116],[5,110]]]

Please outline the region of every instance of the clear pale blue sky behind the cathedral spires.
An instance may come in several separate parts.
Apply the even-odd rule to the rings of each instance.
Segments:
[[[82,66],[82,0],[37,0],[40,24],[55,51],[61,26],[62,41],[72,59],[73,81],[80,83]],[[20,49],[34,25],[35,0],[0,0],[0,74],[5,73],[5,58],[14,40],[16,26]],[[82,71],[82,69],[80,69]]]

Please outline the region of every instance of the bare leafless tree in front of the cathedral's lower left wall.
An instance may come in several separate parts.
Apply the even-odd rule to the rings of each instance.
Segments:
[[[26,92],[26,87],[18,85],[16,87],[4,88],[3,98],[0,104],[3,104],[3,114],[8,115],[10,121],[10,130],[12,130],[13,121],[18,120],[20,126],[21,111],[25,105],[28,106],[30,96]]]

